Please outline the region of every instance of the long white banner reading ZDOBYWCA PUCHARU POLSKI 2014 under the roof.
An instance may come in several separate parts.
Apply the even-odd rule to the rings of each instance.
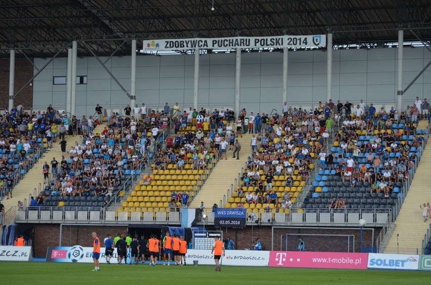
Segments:
[[[175,51],[199,49],[262,49],[325,47],[326,35],[181,38],[144,40],[144,51]]]

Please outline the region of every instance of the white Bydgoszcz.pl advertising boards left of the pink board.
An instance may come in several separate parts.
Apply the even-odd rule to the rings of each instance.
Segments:
[[[222,265],[268,266],[269,253],[269,251],[227,250]],[[198,264],[215,264],[211,250],[188,250],[186,253],[187,264],[193,264],[194,260],[197,260]]]

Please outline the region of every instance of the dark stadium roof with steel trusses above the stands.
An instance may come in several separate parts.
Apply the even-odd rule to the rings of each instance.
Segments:
[[[214,10],[211,10],[211,7]],[[335,45],[431,40],[431,0],[3,0],[0,58],[49,57],[86,41],[99,56],[129,55],[148,38],[308,35]],[[419,39],[418,39],[419,38]],[[66,54],[62,50],[61,54]],[[78,56],[91,55],[78,44]]]

